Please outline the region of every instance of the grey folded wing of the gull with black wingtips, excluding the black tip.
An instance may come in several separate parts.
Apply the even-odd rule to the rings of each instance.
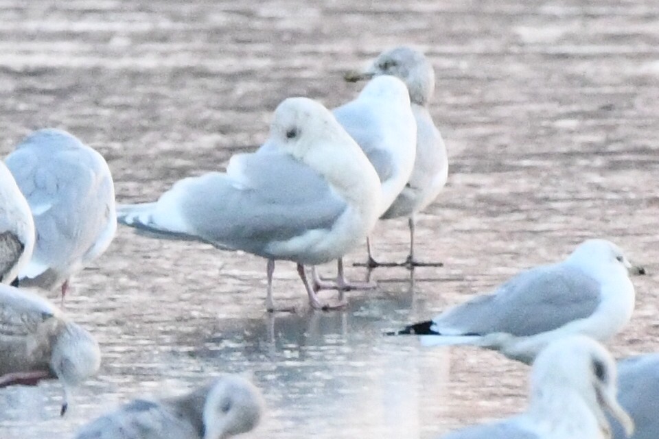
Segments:
[[[544,265],[522,272],[494,294],[469,300],[437,316],[439,333],[535,335],[587,318],[599,305],[600,285],[577,268]]]

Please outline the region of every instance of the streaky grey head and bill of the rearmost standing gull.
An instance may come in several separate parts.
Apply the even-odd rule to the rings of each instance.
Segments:
[[[400,78],[407,86],[414,104],[425,106],[435,93],[435,70],[428,58],[416,49],[401,46],[378,55],[364,71],[349,71],[344,79],[348,82],[367,80],[379,75]]]

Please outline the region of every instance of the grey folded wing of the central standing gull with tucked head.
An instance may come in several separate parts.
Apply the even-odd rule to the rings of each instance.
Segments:
[[[206,241],[268,257],[271,241],[332,228],[347,208],[319,174],[286,154],[240,154],[232,162],[235,172],[230,165],[229,174],[181,186],[181,211]]]

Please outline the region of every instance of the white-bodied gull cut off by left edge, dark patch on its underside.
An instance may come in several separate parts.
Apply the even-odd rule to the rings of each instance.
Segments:
[[[0,283],[13,283],[34,249],[34,220],[14,176],[0,161]]]

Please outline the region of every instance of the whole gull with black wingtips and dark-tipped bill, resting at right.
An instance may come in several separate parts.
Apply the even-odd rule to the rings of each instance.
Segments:
[[[589,239],[562,262],[522,272],[491,294],[397,334],[420,335],[426,346],[482,346],[528,364],[548,342],[565,335],[580,333],[600,342],[616,335],[634,310],[630,273],[645,270],[610,241]]]

